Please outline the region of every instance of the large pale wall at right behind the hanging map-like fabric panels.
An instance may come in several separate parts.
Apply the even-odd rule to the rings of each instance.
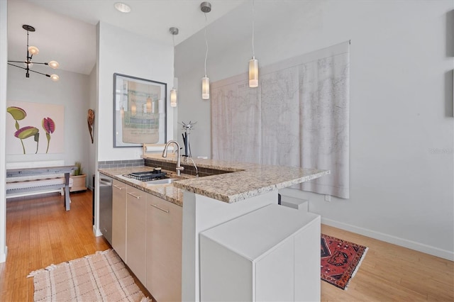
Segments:
[[[286,192],[309,198],[323,223],[454,259],[453,10],[449,0],[255,1],[260,66],[351,40],[351,197]],[[248,1],[207,28],[211,82],[247,72],[251,11]],[[211,153],[204,55],[203,30],[177,46],[178,121],[198,121],[193,156]]]

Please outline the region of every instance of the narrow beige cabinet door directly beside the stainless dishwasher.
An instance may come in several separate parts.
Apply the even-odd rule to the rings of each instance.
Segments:
[[[112,185],[112,247],[126,262],[126,187],[114,179]]]

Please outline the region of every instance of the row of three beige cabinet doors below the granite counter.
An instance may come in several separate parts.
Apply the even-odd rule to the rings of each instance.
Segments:
[[[161,301],[182,299],[182,207],[114,179],[112,247]]]

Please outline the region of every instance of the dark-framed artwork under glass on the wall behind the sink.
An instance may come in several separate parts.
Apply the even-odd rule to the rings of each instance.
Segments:
[[[114,147],[165,144],[167,84],[114,74]]]

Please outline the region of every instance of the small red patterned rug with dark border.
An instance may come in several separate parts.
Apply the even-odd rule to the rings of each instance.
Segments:
[[[320,252],[321,279],[345,289],[360,267],[367,247],[321,234]]]

